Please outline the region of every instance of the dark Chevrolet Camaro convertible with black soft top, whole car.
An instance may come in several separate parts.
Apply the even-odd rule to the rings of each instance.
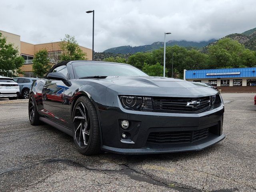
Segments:
[[[32,125],[45,122],[73,136],[85,155],[202,150],[225,137],[218,91],[128,64],[56,64],[32,84],[28,111]]]

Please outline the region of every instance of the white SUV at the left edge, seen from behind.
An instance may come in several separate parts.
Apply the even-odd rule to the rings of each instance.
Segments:
[[[17,99],[20,94],[18,84],[10,77],[0,76],[0,98]]]

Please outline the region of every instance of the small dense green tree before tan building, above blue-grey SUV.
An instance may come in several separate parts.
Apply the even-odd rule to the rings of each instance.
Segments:
[[[36,76],[42,77],[50,70],[52,64],[48,58],[48,52],[46,49],[39,50],[34,55],[32,69]]]

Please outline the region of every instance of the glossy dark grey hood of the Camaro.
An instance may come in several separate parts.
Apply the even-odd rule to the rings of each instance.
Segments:
[[[118,95],[200,97],[217,94],[218,91],[191,82],[164,77],[107,77],[100,79]]]

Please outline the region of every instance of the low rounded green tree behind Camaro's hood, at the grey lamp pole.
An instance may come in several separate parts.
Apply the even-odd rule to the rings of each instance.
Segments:
[[[143,67],[142,67],[142,71],[144,71],[146,74],[148,74],[149,76],[159,76],[162,77],[164,76],[164,66],[162,66],[160,63],[156,63],[154,65],[149,65],[144,63]],[[165,69],[165,75],[167,76],[168,74],[168,70]]]

